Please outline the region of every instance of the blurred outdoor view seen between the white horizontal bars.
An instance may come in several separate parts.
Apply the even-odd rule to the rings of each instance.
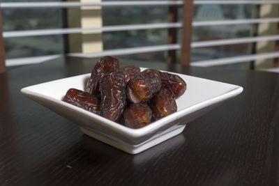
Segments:
[[[2,0],[2,3],[40,0]],[[51,1],[51,0],[49,0]],[[59,0],[52,0],[59,1]],[[107,0],[103,0],[105,2]],[[113,0],[109,0],[113,1]],[[205,0],[206,1],[206,0]],[[41,2],[41,1],[40,1]],[[87,1],[86,1],[87,2]],[[246,20],[256,18],[276,18],[278,4],[234,4],[234,5],[195,5],[193,22]],[[130,6],[90,8],[2,8],[3,31],[30,31],[38,29],[92,28],[126,24],[153,24],[168,21],[168,6]],[[179,22],[182,22],[183,9],[179,9]],[[93,20],[90,20],[90,17]],[[192,41],[225,40],[253,36],[274,36],[278,34],[278,22],[260,24],[230,24],[213,26],[193,26]],[[181,29],[178,29],[177,42],[181,43]],[[90,53],[108,49],[165,45],[167,29],[145,29],[114,31],[103,33],[73,33],[69,35],[4,37],[6,59],[22,59],[31,56],[48,56],[63,53]],[[91,37],[91,39],[88,39]],[[90,43],[84,44],[90,40]],[[93,38],[93,39],[92,39]],[[87,45],[87,46],[86,46]],[[248,42],[235,45],[213,47],[193,47],[191,63],[223,59],[262,52],[275,52],[278,43]],[[180,63],[180,50],[176,51],[176,63]],[[165,63],[167,52],[147,52],[118,56],[131,61],[157,61]],[[13,65],[10,61],[8,65]],[[226,67],[255,70],[278,67],[278,58],[241,61],[241,63],[220,64]],[[220,66],[218,65],[218,66]]]

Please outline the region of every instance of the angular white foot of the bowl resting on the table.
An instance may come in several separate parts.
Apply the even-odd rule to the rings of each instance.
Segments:
[[[84,132],[84,134],[88,135],[89,137],[93,137],[94,139],[103,141],[105,144],[109,144],[110,146],[123,150],[126,153],[135,155],[137,153],[141,153],[142,151],[148,148],[156,146],[157,144],[160,144],[167,139],[175,137],[176,135],[180,134],[185,127],[186,124],[174,125],[172,127],[169,127],[164,132],[155,134],[150,139],[147,139],[146,141],[143,141],[141,144],[136,145],[127,144],[125,141],[122,141],[121,139],[116,139],[114,137],[108,136],[107,134],[100,133],[86,127],[80,127],[80,130],[82,130],[82,132]]]

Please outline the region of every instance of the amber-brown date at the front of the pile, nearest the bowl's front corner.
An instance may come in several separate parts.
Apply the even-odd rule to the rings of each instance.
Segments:
[[[140,128],[151,123],[152,111],[145,103],[131,104],[123,114],[124,125],[130,128]]]

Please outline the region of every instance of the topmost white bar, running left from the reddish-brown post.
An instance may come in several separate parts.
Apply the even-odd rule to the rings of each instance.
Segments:
[[[1,8],[78,8],[81,6],[180,6],[183,1],[103,1],[100,3],[80,2],[18,2],[0,3]]]

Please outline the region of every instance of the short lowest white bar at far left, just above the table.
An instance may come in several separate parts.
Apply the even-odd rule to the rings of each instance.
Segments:
[[[47,56],[33,56],[25,58],[16,58],[16,59],[6,59],[6,66],[16,66],[16,65],[29,65],[34,63],[43,63],[44,61],[56,59],[61,54],[47,55]]]

